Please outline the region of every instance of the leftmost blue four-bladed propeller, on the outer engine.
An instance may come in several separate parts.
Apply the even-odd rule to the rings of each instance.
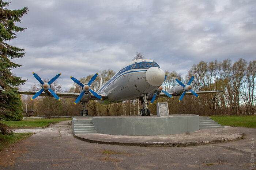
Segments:
[[[42,80],[41,80],[41,78],[37,75],[37,74],[35,74],[34,72],[33,72],[33,75],[34,75],[34,77],[38,80],[38,82],[40,82],[41,84],[42,84],[42,89],[41,90],[39,90],[32,98],[31,98],[31,100],[34,100],[35,98],[37,98],[43,91],[45,91],[45,90],[48,90],[49,92],[50,92],[50,94],[52,94],[52,96],[54,97],[54,98],[56,98],[57,100],[60,100],[60,98],[57,96],[57,94],[50,88],[50,85],[55,81],[55,80],[57,80],[57,78],[59,78],[59,76],[61,75],[61,74],[57,74],[56,76],[54,76],[54,78],[52,78],[48,83],[44,83]]]

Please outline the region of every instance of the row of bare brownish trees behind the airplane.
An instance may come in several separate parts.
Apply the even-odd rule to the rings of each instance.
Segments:
[[[176,71],[165,71],[167,77],[163,83],[164,90],[177,86],[175,78],[186,84],[192,75],[195,78],[191,84],[193,91],[217,91],[223,93],[202,94],[199,98],[193,95],[185,96],[178,102],[179,96],[174,99],[158,98],[149,106],[151,114],[156,114],[157,102],[168,102],[170,114],[199,114],[199,115],[237,115],[246,113],[253,114],[255,106],[255,78],[256,60],[246,62],[240,59],[232,63],[230,59],[223,62],[217,60],[212,62],[201,61],[194,64],[187,75],[177,74]],[[105,84],[115,71],[104,70],[102,72],[102,83]],[[79,81],[86,84],[93,75],[80,78]],[[47,81],[46,81],[47,82]],[[61,91],[61,86],[56,82],[53,84],[56,92]],[[34,84],[30,90],[38,91],[41,84]],[[91,84],[94,91],[99,90],[99,76]],[[76,83],[65,92],[80,92],[80,86]],[[23,103],[27,102],[28,109],[36,110],[39,115],[74,116],[79,115],[82,104],[74,105],[75,99],[61,98],[61,102],[48,96],[39,96],[35,100],[30,100],[31,96],[23,98]],[[96,100],[90,100],[86,105],[89,115],[109,116],[109,115],[136,115],[142,108],[139,100],[127,100],[120,103],[108,105],[99,104]],[[25,105],[23,104],[23,108]]]

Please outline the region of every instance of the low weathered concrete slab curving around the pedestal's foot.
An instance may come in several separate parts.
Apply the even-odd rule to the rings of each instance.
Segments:
[[[236,127],[225,126],[223,129],[203,129],[174,135],[128,136],[95,133],[77,134],[75,137],[86,142],[109,145],[184,147],[235,141],[243,138],[244,134],[237,132],[236,129]]]

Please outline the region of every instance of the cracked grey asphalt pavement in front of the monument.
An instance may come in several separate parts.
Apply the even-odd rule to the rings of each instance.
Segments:
[[[245,134],[233,142],[140,147],[81,141],[73,137],[70,123],[36,129],[30,138],[0,153],[0,169],[251,169],[255,154],[251,148],[256,129],[251,128],[233,128]]]

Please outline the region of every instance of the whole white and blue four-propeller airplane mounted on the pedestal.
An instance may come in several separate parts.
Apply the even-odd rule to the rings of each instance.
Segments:
[[[152,104],[156,98],[166,96],[173,98],[173,96],[180,95],[179,101],[181,101],[184,95],[195,95],[199,97],[197,94],[223,92],[192,91],[190,84],[195,76],[192,76],[187,84],[183,84],[180,80],[175,79],[180,85],[170,88],[168,91],[164,91],[162,84],[166,79],[165,72],[155,61],[150,59],[138,59],[126,64],[104,85],[102,85],[102,79],[100,78],[100,87],[97,92],[91,90],[90,85],[96,79],[98,73],[96,73],[87,84],[83,84],[79,82],[78,79],[71,76],[71,79],[81,87],[79,93],[55,93],[53,91],[51,84],[59,78],[61,74],[57,74],[48,83],[43,82],[34,72],[33,75],[42,84],[42,89],[38,92],[18,91],[19,94],[34,95],[31,100],[39,95],[53,96],[57,100],[60,100],[59,97],[76,98],[75,104],[80,101],[83,105],[81,115],[88,115],[86,104],[89,100],[98,100],[101,104],[110,104],[124,100],[139,99],[143,104],[143,108],[140,109],[140,114],[142,116],[150,116],[150,110],[147,105],[149,101]]]

